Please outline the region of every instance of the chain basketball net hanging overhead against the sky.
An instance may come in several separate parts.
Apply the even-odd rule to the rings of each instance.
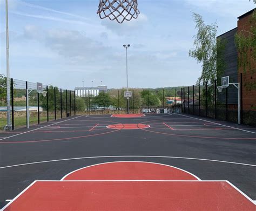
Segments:
[[[101,19],[108,17],[118,23],[131,21],[139,15],[137,0],[99,0],[97,14]]]

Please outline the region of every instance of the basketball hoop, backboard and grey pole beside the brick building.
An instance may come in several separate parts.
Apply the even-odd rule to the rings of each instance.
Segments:
[[[221,86],[218,86],[218,91],[221,92],[224,89],[226,89],[229,85],[233,85],[235,88],[237,88],[237,100],[238,100],[238,124],[241,124],[241,93],[240,93],[240,83],[230,83],[230,77],[225,76],[221,78]]]

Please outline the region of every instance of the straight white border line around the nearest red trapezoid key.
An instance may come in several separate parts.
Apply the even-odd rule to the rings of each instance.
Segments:
[[[21,196],[26,190],[28,190],[36,182],[226,182],[228,185],[230,185],[235,190],[237,190],[242,196],[244,196],[248,201],[252,202],[253,205],[256,205],[256,201],[252,200],[249,196],[247,196],[239,188],[235,187],[228,180],[35,180],[0,210],[4,211],[4,209],[9,207],[12,202],[14,202],[17,198],[19,198],[19,196]]]

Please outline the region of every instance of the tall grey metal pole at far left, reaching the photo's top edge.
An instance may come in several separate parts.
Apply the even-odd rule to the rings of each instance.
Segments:
[[[7,97],[7,130],[11,129],[11,101],[10,101],[10,65],[9,65],[9,26],[8,26],[8,0],[5,0],[6,16],[6,97]]]

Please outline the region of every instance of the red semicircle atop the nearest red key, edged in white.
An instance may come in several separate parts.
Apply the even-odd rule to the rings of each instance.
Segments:
[[[182,169],[151,162],[109,162],[78,169],[62,180],[200,180]]]

